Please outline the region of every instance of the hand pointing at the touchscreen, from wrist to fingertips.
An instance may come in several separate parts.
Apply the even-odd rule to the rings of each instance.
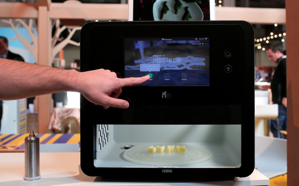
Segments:
[[[105,109],[110,106],[126,109],[129,103],[117,99],[124,86],[133,86],[149,80],[149,76],[118,78],[114,72],[104,69],[80,72],[80,82],[77,91],[90,102],[102,105]]]

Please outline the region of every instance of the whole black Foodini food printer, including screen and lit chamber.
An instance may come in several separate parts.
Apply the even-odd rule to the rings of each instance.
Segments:
[[[254,30],[244,21],[90,22],[81,71],[119,78],[128,109],[81,95],[81,168],[89,176],[229,179],[254,170]]]

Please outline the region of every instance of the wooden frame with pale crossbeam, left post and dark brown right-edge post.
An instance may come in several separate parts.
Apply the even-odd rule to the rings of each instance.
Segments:
[[[217,20],[246,20],[251,24],[286,24],[288,29],[288,184],[298,183],[298,114],[299,100],[297,78],[297,43],[298,43],[298,2],[286,0],[286,9],[275,8],[238,8],[216,7]],[[0,19],[23,18],[38,19],[39,45],[38,63],[48,65],[50,53],[50,19],[88,19],[88,20],[127,20],[128,6],[126,4],[80,4],[78,2],[51,3],[51,0],[36,0],[32,3],[0,3]],[[286,12],[288,10],[288,12]],[[287,16],[286,16],[287,15]],[[45,42],[49,42],[46,43]],[[43,46],[43,47],[42,47]],[[292,80],[292,81],[291,81]],[[292,96],[293,95],[293,96]],[[45,132],[48,126],[51,110],[51,96],[39,96],[39,133]],[[297,162],[297,163],[296,163]]]

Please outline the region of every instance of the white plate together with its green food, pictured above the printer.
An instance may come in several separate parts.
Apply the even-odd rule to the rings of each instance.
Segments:
[[[184,0],[157,0],[152,11],[155,21],[202,21],[204,18],[196,2]]]

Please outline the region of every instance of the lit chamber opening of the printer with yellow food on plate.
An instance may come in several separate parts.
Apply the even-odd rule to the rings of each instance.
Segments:
[[[113,125],[95,128],[95,167],[238,168],[241,125]]]

